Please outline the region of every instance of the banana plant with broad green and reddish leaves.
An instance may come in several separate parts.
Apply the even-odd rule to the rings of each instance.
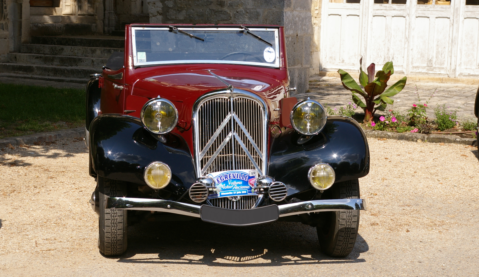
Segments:
[[[352,92],[354,103],[363,108],[364,120],[369,122],[373,119],[377,110],[384,111],[387,104],[392,105],[394,103],[391,97],[404,88],[407,78],[404,76],[386,90],[389,78],[394,73],[392,61],[388,61],[382,70],[377,71],[376,76],[374,74],[376,65],[374,63],[370,64],[366,74],[363,71],[362,62],[363,58],[359,60],[359,83],[363,86],[364,91],[348,72],[339,69],[338,73],[341,76],[342,86]],[[365,101],[363,102],[359,96],[363,96]]]

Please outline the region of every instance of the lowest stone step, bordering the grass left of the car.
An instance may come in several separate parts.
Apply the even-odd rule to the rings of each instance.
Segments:
[[[61,78],[88,79],[90,74],[102,73],[102,69],[89,67],[47,66],[20,63],[0,63],[0,72]]]

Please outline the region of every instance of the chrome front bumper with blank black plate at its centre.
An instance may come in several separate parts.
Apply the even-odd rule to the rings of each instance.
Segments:
[[[108,197],[109,209],[148,210],[201,218],[203,221],[229,226],[250,226],[278,220],[280,217],[305,213],[365,210],[364,199],[311,200],[252,209],[226,209],[209,205],[193,205],[162,199]]]

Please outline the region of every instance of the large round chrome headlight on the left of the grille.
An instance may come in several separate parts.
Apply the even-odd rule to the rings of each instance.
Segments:
[[[143,106],[140,117],[148,131],[164,135],[171,132],[178,123],[178,110],[170,101],[154,98]]]

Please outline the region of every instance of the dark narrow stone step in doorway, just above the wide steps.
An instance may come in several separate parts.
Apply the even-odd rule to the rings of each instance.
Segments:
[[[96,23],[33,23],[31,35],[94,35]]]

